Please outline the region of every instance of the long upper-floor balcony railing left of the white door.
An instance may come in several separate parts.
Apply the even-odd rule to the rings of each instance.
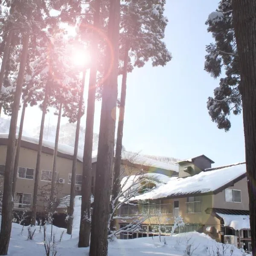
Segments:
[[[119,208],[119,215],[167,215],[172,214],[172,204],[129,205]]]

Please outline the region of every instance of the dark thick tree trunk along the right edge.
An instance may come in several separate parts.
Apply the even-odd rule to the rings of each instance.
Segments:
[[[241,74],[250,230],[256,256],[256,0],[233,0],[232,6]]]

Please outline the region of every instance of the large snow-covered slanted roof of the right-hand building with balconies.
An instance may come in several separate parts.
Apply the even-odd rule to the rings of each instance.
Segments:
[[[234,180],[240,179],[245,175],[246,165],[240,164],[213,171],[200,172],[197,175],[186,178],[171,177],[167,184],[156,187],[145,194],[138,195],[132,198],[132,200],[175,198],[180,195],[216,193],[218,189],[229,185]]]

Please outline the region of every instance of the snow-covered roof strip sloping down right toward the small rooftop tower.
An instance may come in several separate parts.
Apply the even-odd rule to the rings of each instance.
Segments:
[[[163,163],[148,157],[143,157],[138,154],[128,152],[128,151],[122,151],[122,159],[128,160],[131,163],[142,165],[142,166],[151,166],[159,169],[179,172],[179,167],[177,165]]]

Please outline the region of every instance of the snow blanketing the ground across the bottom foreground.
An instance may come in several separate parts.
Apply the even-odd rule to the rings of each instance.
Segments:
[[[21,234],[22,226],[16,223],[12,224],[12,234],[9,244],[9,256],[44,256],[44,231],[40,232],[40,227],[36,227],[33,240],[27,240],[28,230],[24,227]],[[32,228],[32,231],[34,227]],[[59,241],[61,233],[64,231],[61,242]],[[47,225],[47,239],[50,237],[51,225]],[[53,226],[53,234],[56,241],[56,256],[88,256],[89,248],[78,248],[79,230],[74,229],[73,235],[67,235],[66,230]],[[167,244],[163,241],[166,239]],[[109,242],[108,256],[183,256],[185,253],[186,244],[191,244],[191,251],[195,249],[192,256],[207,256],[207,250],[215,251],[217,247],[221,248],[221,244],[216,243],[204,233],[183,233],[172,238],[162,236],[161,242],[159,237],[145,237],[138,239],[128,239]],[[189,241],[188,241],[189,240]],[[233,256],[242,256],[239,249],[232,245],[227,245],[228,250],[225,256],[230,256],[230,250],[233,250]],[[207,249],[208,248],[208,249]]]

